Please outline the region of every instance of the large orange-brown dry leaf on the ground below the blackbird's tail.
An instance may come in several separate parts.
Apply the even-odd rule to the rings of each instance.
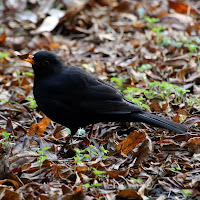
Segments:
[[[137,145],[140,145],[145,138],[146,134],[144,131],[138,132],[135,130],[117,145],[116,150],[122,151],[123,154],[128,155]]]

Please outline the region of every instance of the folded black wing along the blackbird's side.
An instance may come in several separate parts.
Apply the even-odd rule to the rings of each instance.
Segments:
[[[143,110],[116,88],[80,68],[72,67],[53,79],[48,81],[54,87],[55,100],[71,110],[93,114],[126,114]]]

